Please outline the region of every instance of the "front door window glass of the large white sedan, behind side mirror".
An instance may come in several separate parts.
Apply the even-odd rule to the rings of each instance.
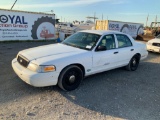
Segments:
[[[106,50],[111,50],[116,48],[114,35],[106,35],[102,38],[99,46],[105,46]]]

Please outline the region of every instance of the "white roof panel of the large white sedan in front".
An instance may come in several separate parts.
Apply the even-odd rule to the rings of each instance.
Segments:
[[[99,34],[99,35],[104,35],[104,34],[124,34],[122,32],[111,31],[111,30],[82,30],[82,31],[79,31],[79,32],[94,33],[94,34]]]

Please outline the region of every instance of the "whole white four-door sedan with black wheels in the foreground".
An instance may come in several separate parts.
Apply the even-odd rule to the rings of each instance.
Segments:
[[[115,31],[80,31],[62,43],[20,51],[12,60],[15,73],[35,86],[76,89],[84,77],[125,66],[135,71],[147,57],[146,45]]]

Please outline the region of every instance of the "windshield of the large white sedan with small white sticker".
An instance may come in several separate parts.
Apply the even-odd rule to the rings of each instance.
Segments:
[[[100,37],[101,35],[98,34],[77,32],[65,39],[62,44],[77,47],[80,49],[92,50]]]

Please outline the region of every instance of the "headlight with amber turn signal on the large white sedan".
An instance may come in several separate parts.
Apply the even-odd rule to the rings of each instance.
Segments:
[[[44,73],[44,72],[53,72],[56,71],[56,67],[54,65],[36,65],[32,62],[29,63],[28,69],[34,71],[34,72],[39,72],[39,73]]]

